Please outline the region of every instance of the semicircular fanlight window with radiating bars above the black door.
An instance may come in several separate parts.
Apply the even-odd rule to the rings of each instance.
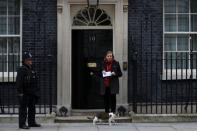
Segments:
[[[86,7],[77,12],[73,19],[74,26],[111,26],[110,17],[97,7]]]

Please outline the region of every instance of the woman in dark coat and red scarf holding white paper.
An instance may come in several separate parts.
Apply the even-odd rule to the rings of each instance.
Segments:
[[[100,93],[104,95],[105,112],[116,112],[116,94],[119,93],[119,77],[122,76],[119,62],[114,59],[112,51],[107,51],[102,63]]]

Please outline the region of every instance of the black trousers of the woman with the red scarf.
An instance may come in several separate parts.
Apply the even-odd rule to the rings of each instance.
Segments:
[[[106,87],[104,95],[105,112],[116,112],[116,94],[110,93],[110,88]]]

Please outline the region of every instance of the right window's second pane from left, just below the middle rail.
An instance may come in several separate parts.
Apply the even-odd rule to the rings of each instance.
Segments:
[[[177,36],[177,50],[178,51],[188,51],[189,50],[189,36],[188,35],[178,35]]]

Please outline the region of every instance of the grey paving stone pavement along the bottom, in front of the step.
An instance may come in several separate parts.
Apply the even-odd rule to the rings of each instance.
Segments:
[[[0,131],[24,131],[17,124],[1,124]],[[51,123],[29,131],[197,131],[197,123],[118,123],[92,125],[91,123]]]

